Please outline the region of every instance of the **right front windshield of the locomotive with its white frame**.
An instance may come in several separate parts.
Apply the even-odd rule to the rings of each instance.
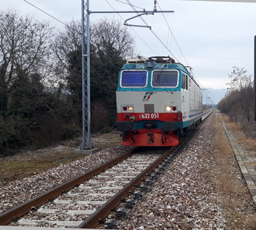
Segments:
[[[177,88],[179,85],[178,70],[154,70],[151,76],[153,88]]]

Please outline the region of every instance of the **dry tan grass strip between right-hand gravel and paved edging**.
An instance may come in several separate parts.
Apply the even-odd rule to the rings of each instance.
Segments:
[[[221,117],[228,123],[226,117],[223,117],[222,114]],[[228,127],[231,129],[232,124]],[[239,127],[235,127],[235,129],[240,130]],[[237,174],[241,175],[240,168],[222,123],[220,123],[220,117],[217,117],[215,145],[218,149],[215,160],[218,162],[220,170],[218,188],[222,192],[221,203],[225,207],[228,227],[231,229],[256,230],[255,209],[251,205],[252,196],[245,181],[241,183],[236,177]]]

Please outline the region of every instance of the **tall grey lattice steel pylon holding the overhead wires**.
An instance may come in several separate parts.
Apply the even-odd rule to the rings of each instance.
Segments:
[[[85,34],[86,33],[86,34]],[[90,105],[90,21],[89,0],[82,0],[82,91],[83,91],[83,141],[81,149],[91,149]]]

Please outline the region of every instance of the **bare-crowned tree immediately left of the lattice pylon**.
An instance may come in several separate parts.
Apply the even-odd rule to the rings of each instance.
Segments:
[[[72,19],[51,40],[54,55],[52,88],[61,91],[62,109],[75,123],[82,118],[82,38],[81,20]]]

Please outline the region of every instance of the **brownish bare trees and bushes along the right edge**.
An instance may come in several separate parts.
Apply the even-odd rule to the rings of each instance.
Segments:
[[[247,135],[256,137],[254,114],[254,83],[247,70],[233,66],[228,74],[230,87],[224,98],[219,102],[220,111],[228,114],[231,121],[241,124]]]

